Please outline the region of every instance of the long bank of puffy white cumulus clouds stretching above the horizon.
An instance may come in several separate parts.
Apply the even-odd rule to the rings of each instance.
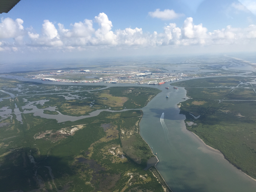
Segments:
[[[171,18],[170,15],[168,16],[169,11],[166,11],[165,14],[164,10],[161,13],[161,18]],[[158,10],[158,12],[160,11]],[[1,20],[0,51],[72,51],[85,50],[90,47],[101,49],[111,47],[154,48],[166,45],[244,45],[254,44],[256,40],[256,25],[250,25],[247,28],[227,26],[209,32],[202,23],[194,24],[191,17],[184,20],[183,26],[178,27],[175,23],[170,23],[163,27],[162,32],[155,31],[152,34],[144,33],[142,28],[113,31],[112,22],[105,13],[100,13],[93,20],[85,19],[71,24],[69,28],[65,28],[61,23],[53,24],[49,20],[44,20],[40,34],[36,33],[33,28],[24,29],[22,24],[23,20],[21,19],[5,18]],[[98,28],[95,29],[93,25]]]

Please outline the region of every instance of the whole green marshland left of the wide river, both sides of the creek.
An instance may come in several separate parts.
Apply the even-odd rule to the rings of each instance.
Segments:
[[[0,119],[1,191],[170,191],[154,167],[144,170],[154,155],[139,133],[141,110],[103,111],[58,123],[25,108],[32,102],[45,114],[55,115],[58,112],[48,106],[56,106],[70,116],[102,108],[142,108],[160,90],[111,87],[88,92],[103,86],[1,82],[0,89],[15,94],[0,102],[2,113],[10,113]],[[39,90],[49,94],[40,95]]]

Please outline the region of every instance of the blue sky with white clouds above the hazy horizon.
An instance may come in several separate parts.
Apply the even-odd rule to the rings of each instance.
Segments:
[[[256,51],[255,0],[21,0],[0,62]]]

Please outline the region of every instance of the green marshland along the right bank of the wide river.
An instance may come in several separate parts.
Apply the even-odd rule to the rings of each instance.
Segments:
[[[184,86],[187,96],[193,98],[179,104],[180,113],[186,115],[187,129],[256,179],[254,81],[250,77],[214,77],[171,85]],[[190,114],[201,116],[195,119]]]

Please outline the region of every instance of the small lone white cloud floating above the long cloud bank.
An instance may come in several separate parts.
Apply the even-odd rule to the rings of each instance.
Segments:
[[[176,13],[173,9],[165,9],[164,11],[160,11],[160,9],[156,9],[154,12],[148,12],[148,15],[150,15],[153,18],[159,18],[162,20],[171,20],[175,19],[181,16],[184,16],[184,14]]]

